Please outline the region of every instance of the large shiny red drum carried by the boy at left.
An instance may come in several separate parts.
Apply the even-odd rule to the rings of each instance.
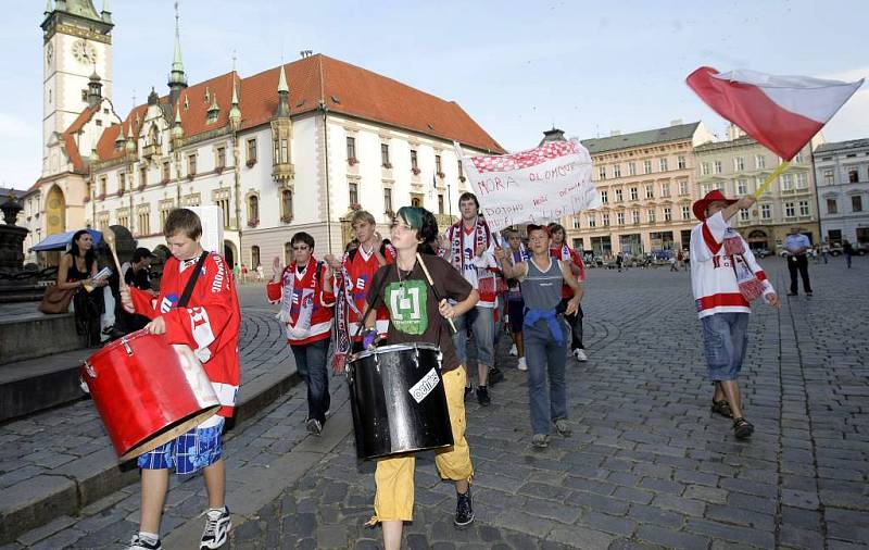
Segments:
[[[193,350],[144,329],[88,358],[81,379],[122,461],[175,439],[221,408]]]

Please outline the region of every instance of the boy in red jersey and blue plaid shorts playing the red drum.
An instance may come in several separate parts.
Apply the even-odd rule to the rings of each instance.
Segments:
[[[168,489],[169,468],[174,467],[177,474],[191,474],[204,467],[209,510],[200,548],[214,549],[226,542],[231,527],[225,505],[226,470],[221,434],[224,418],[232,415],[240,382],[238,336],[241,315],[229,267],[216,252],[202,250],[199,216],[187,209],[173,210],[163,233],[172,258],[163,270],[160,293],[154,297],[124,285],[121,288],[122,303],[129,313],[152,320],[144,327],[150,333],[165,334],[172,343],[186,343],[193,349],[223,407],[216,415],[187,434],[139,457],[141,521],[139,533],[133,536],[129,548],[162,548],[160,520]],[[177,307],[185,287],[194,275],[197,279],[189,302]]]

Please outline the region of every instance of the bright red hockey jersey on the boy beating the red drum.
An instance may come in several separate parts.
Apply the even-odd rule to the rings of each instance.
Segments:
[[[202,361],[217,399],[223,405],[217,414],[232,416],[241,371],[238,337],[241,312],[229,268],[219,254],[211,252],[202,265],[187,308],[176,305],[184,292],[198,258],[169,258],[163,270],[160,295],[130,287],[136,313],[149,318],[160,315],[166,322],[166,336],[172,343],[186,343]]]

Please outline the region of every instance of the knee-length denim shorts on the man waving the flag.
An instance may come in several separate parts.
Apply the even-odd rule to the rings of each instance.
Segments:
[[[748,313],[715,313],[701,323],[709,379],[735,380],[745,359]]]

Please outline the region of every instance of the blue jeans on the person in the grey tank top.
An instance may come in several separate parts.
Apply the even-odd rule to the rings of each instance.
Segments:
[[[567,362],[568,327],[559,315],[565,336],[558,346],[544,321],[522,327],[525,360],[528,364],[528,401],[531,405],[531,429],[549,434],[553,422],[567,417],[567,384],[564,368]],[[546,391],[546,374],[550,388]]]

